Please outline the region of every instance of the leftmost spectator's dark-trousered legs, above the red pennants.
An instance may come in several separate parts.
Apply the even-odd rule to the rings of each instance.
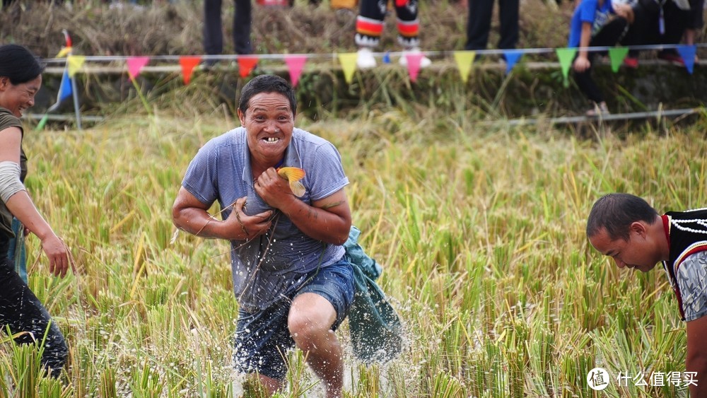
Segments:
[[[204,0],[204,52],[217,55],[223,52],[223,31],[221,27],[221,1]],[[233,0],[233,47],[236,54],[251,54],[250,25],[252,22],[252,4],[250,0]],[[207,65],[216,61],[210,59]]]

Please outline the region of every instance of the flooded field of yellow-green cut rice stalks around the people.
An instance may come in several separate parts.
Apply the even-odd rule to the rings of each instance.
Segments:
[[[45,379],[37,349],[3,335],[0,397],[258,396],[231,371],[238,306],[227,243],[182,233],[170,244],[182,173],[234,123],[219,111],[155,111],[25,134],[28,191],[80,272],[49,276],[28,240],[30,287],[71,359],[64,379]],[[686,396],[684,385],[649,380],[684,372],[667,279],[659,267],[617,269],[584,228],[608,192],[659,211],[705,206],[703,116],[621,134],[600,126],[585,138],[433,111],[297,124],[339,148],[361,245],[383,265],[379,283],[406,329],[402,355],[367,368],[344,324],[346,397]],[[320,396],[302,353],[289,367],[280,397]],[[612,375],[603,392],[588,387],[595,367]],[[617,382],[619,372],[636,377]]]

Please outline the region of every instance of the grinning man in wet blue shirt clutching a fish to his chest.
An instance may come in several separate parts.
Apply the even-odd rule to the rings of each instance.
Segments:
[[[351,210],[339,152],[294,127],[294,92],[279,76],[257,76],[241,92],[243,127],[211,139],[187,168],[173,206],[175,226],[230,240],[238,300],[235,368],[257,374],[270,394],[284,387],[286,352],[308,365],[340,397],[341,346],[334,330],[354,298],[351,264],[341,245]],[[293,194],[279,168],[305,170]],[[214,201],[221,221],[207,213]]]

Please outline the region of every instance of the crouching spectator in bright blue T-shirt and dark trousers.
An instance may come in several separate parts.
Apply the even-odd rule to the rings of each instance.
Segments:
[[[633,23],[633,8],[628,4],[612,5],[612,0],[582,0],[570,23],[568,47],[580,47],[572,64],[575,81],[594,104],[588,116],[609,113],[602,91],[592,79],[592,62],[597,52],[587,47],[609,47],[626,35]]]

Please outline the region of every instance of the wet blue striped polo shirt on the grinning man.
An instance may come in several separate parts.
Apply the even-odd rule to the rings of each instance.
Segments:
[[[311,204],[339,192],[349,184],[341,156],[329,141],[302,129],[294,129],[283,166],[305,170],[301,180],[305,194],[299,199]],[[246,131],[238,127],[211,139],[187,168],[182,186],[202,203],[214,201],[221,208],[247,197],[247,215],[271,210],[253,188],[250,151]],[[230,209],[223,211],[228,218]],[[284,213],[276,211],[270,230],[254,240],[232,240],[231,273],[233,292],[241,310],[262,310],[289,296],[305,282],[305,275],[327,267],[344,255],[344,247],[305,235]]]

